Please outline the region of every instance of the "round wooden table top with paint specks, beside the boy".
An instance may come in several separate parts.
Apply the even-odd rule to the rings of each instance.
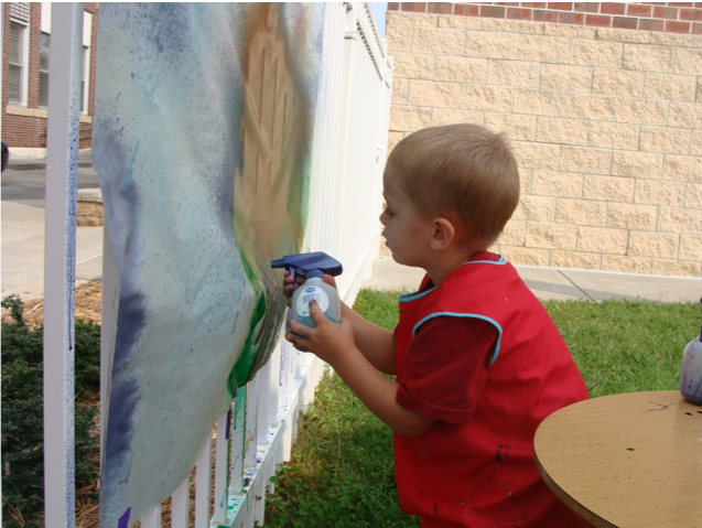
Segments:
[[[534,457],[591,526],[702,528],[702,407],[677,390],[561,409],[539,425]]]

